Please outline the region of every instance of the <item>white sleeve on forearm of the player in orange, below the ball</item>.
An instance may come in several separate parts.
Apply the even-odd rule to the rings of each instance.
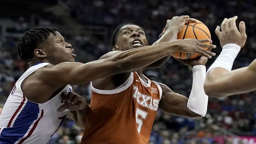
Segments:
[[[207,112],[208,96],[204,91],[206,68],[204,65],[193,66],[193,84],[187,107],[194,113],[205,116]]]

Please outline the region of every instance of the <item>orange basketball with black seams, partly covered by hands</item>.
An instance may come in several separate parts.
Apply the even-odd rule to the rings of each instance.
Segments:
[[[165,30],[163,30],[164,32]],[[196,38],[196,39],[211,39],[211,34],[207,26],[197,20],[197,22],[186,22],[183,29],[178,33],[177,39],[185,39],[185,38]],[[207,42],[205,44],[210,44],[210,42]],[[208,48],[204,48],[207,50]],[[201,54],[199,53],[186,53],[186,52],[180,52],[176,51],[173,53],[174,57],[177,59],[194,59],[196,57],[199,57]]]

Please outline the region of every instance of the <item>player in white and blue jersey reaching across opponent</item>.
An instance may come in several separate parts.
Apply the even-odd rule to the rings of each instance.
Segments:
[[[69,110],[58,111],[63,105],[61,94],[71,91],[69,84],[84,84],[135,71],[177,50],[210,57],[215,54],[202,49],[215,47],[203,44],[209,41],[185,39],[160,43],[83,64],[74,62],[74,49],[64,41],[59,30],[52,27],[32,29],[18,42],[19,55],[30,68],[15,83],[0,115],[0,144],[44,144],[60,127],[69,110],[74,110],[70,113],[77,117],[86,116],[84,110],[79,110],[87,106],[81,97],[75,97],[76,105],[65,104]],[[79,119],[75,121],[77,125],[83,123]]]

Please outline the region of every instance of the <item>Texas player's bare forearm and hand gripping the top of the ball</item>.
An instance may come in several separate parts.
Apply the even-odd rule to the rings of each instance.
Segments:
[[[166,26],[165,26],[163,32],[159,35],[159,39],[153,45],[163,43],[163,42],[173,41],[173,40],[177,39],[178,32],[180,32],[182,30],[182,28],[184,27],[184,25],[187,21],[196,22],[196,19],[189,18],[189,16],[175,16],[171,20],[170,19],[167,20]],[[161,67],[170,58],[171,58],[171,54],[154,62],[153,64],[150,64],[149,66],[145,67],[144,69]]]

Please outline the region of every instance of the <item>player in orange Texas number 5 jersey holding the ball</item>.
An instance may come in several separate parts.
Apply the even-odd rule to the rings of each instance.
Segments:
[[[188,16],[167,21],[166,31],[154,44],[176,39],[186,18]],[[101,60],[147,46],[148,43],[144,30],[129,23],[117,27],[112,36],[112,45],[113,51],[103,55]],[[145,60],[154,58],[155,54]],[[199,119],[205,116],[208,96],[203,84],[207,58],[182,62],[193,67],[193,87],[189,99],[174,93],[162,83],[151,81],[143,75],[143,69],[92,81],[91,106],[85,119],[81,144],[147,144],[158,108],[182,117]],[[153,67],[162,64],[156,62]]]

